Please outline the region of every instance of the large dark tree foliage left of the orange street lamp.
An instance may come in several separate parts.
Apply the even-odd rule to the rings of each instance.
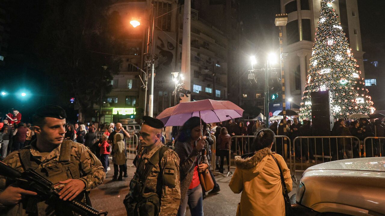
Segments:
[[[80,121],[110,92],[112,75],[119,70],[121,47],[112,37],[109,1],[47,1],[36,43],[50,75],[54,92],[66,103],[75,98]]]

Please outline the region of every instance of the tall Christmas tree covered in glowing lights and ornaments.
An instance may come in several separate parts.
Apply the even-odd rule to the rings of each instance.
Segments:
[[[330,2],[324,0],[316,29],[309,73],[300,108],[301,119],[311,119],[310,93],[329,90],[333,115],[345,118],[353,113],[369,115],[375,108],[365,80],[354,58],[348,38]]]

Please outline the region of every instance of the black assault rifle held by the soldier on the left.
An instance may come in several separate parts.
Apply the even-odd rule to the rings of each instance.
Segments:
[[[46,203],[49,205],[62,205],[64,208],[68,208],[71,211],[80,214],[81,216],[107,215],[107,212],[99,213],[99,211],[92,208],[91,206],[88,206],[74,199],[72,201],[64,201],[63,199],[60,199],[59,189],[55,189],[51,181],[44,178],[44,176],[41,176],[33,169],[27,169],[21,173],[0,161],[0,173],[2,176],[15,180],[20,188],[36,192],[36,198],[39,201],[46,201]],[[36,208],[36,203],[33,205],[27,204],[28,212],[35,212]]]

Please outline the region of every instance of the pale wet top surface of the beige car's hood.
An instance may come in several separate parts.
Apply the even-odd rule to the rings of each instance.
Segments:
[[[346,160],[330,161],[311,166],[308,171],[315,170],[357,170],[357,171],[382,171],[385,172],[385,157],[353,158]]]

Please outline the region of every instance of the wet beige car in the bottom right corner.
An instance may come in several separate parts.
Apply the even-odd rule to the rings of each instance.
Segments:
[[[384,216],[384,194],[385,157],[355,158],[306,169],[291,202],[296,215]]]

